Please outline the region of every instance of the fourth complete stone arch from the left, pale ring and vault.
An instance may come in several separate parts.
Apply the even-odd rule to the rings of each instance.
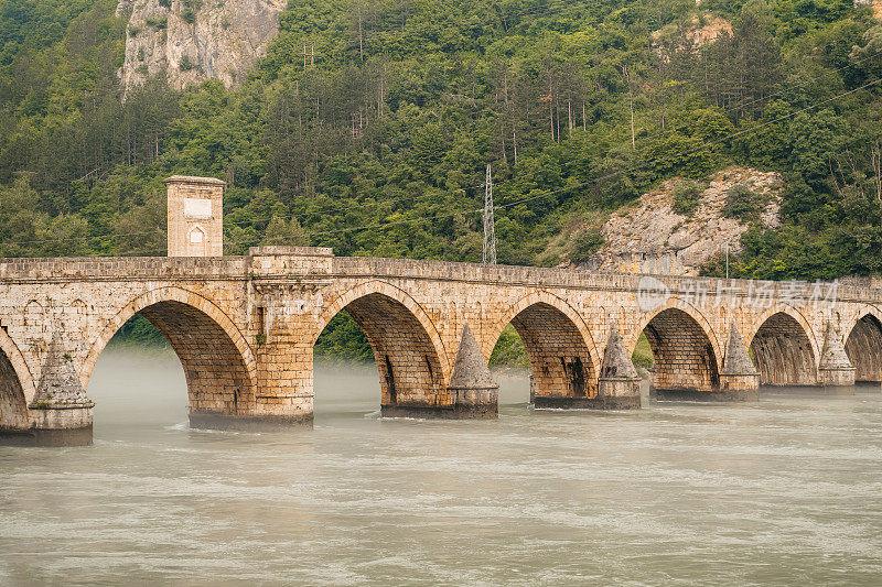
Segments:
[[[720,387],[720,341],[710,322],[691,304],[669,297],[644,313],[628,335],[632,352],[641,334],[653,351],[653,388],[665,391],[712,392]]]

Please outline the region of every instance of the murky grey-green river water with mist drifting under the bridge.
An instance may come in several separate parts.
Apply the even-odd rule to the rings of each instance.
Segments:
[[[0,584],[882,583],[882,393],[381,420],[319,366],[314,430],[193,431],[171,351],[109,349],[95,444],[0,447]]]

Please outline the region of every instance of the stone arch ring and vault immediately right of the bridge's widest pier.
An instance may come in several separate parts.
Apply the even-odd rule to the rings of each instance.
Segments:
[[[338,295],[316,322],[312,347],[341,311],[367,337],[379,373],[381,405],[444,405],[450,363],[438,329],[407,292],[369,281]]]

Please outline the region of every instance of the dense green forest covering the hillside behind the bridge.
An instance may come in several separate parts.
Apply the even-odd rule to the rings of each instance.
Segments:
[[[229,182],[228,253],[480,261],[491,163],[499,262],[552,265],[658,182],[743,164],[784,174],[784,226],[735,275],[882,264],[882,25],[851,0],[292,0],[240,87],[125,101],[115,11],[0,0],[0,256],[163,254],[181,173]]]

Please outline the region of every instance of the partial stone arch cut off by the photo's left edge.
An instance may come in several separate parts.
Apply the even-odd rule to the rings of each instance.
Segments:
[[[26,430],[28,404],[36,388],[15,341],[0,329],[0,431]]]

